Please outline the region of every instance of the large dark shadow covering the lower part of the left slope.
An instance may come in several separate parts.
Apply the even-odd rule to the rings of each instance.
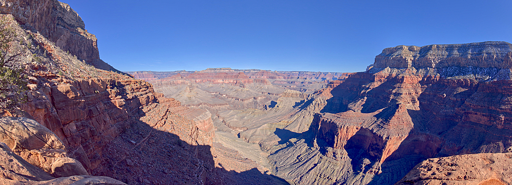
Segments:
[[[202,136],[199,136],[202,137]],[[190,145],[179,136],[133,123],[102,150],[93,175],[127,184],[288,184],[258,169],[228,171],[216,167],[209,145]],[[228,160],[226,160],[229,162]]]

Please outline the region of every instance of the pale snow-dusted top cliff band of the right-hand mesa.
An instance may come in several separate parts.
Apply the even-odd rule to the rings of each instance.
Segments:
[[[434,44],[396,46],[382,50],[375,57],[375,68],[442,68],[442,67],[510,68],[512,44],[477,42],[468,44]]]

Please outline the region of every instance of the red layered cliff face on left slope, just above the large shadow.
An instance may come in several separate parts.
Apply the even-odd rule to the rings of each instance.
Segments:
[[[22,108],[56,133],[88,170],[97,167],[101,149],[130,126],[141,106],[157,102],[149,84],[127,77],[43,82]]]

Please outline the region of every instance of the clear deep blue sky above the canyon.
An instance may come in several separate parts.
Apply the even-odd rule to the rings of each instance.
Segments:
[[[121,71],[364,71],[383,48],[512,42],[512,1],[68,3]]]

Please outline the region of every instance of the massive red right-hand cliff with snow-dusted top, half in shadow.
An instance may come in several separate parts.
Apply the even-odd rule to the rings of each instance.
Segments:
[[[324,89],[330,98],[311,124],[313,143],[340,166],[350,161],[354,176],[337,182],[361,184],[395,183],[425,158],[504,152],[512,145],[510,81],[490,72],[482,80],[478,70],[442,71],[509,71],[509,55],[506,42],[387,48],[369,72]],[[301,180],[307,178],[314,179]]]

